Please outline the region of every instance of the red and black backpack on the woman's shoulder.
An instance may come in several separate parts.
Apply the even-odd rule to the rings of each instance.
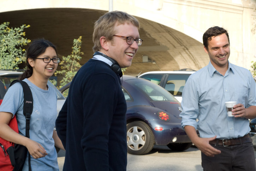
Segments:
[[[23,103],[23,114],[26,118],[26,137],[29,138],[29,125],[30,115],[33,111],[33,97],[28,84],[21,80],[14,80],[10,84],[19,82],[23,87],[24,103]],[[0,100],[0,104],[2,100]],[[15,132],[19,133],[18,123],[16,115],[10,120],[8,126],[10,126]],[[6,141],[0,138],[0,170],[2,171],[22,171],[23,165],[26,160],[28,149],[25,146],[14,144],[10,141]],[[30,154],[29,154],[29,171],[31,171],[30,165]]]

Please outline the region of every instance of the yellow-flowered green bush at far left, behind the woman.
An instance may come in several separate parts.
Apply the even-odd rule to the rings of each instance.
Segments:
[[[26,61],[23,45],[31,42],[24,38],[25,28],[30,25],[22,25],[20,28],[9,28],[9,22],[0,25],[0,69],[19,69],[18,64]]]

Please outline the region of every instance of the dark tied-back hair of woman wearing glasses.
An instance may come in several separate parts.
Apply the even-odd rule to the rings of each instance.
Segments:
[[[57,54],[56,47],[50,41],[45,40],[45,39],[37,39],[29,45],[29,48],[26,51],[27,69],[25,70],[25,72],[22,75],[20,75],[20,77],[19,77],[20,80],[29,78],[33,74],[33,68],[29,65],[28,59],[29,58],[34,59],[34,58],[38,57],[39,55],[43,54],[45,52],[46,48],[48,48],[48,47],[52,47],[56,51],[56,54]]]

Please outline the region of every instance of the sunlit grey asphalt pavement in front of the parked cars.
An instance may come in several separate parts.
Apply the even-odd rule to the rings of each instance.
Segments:
[[[62,171],[65,151],[58,153]],[[167,146],[154,146],[145,155],[127,154],[127,171],[202,171],[201,152],[194,146],[183,152],[172,151]]]

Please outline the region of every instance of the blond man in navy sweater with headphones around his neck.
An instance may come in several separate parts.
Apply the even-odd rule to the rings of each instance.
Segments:
[[[73,78],[56,120],[66,149],[64,171],[126,170],[127,106],[120,77],[142,44],[138,29],[138,20],[121,11],[95,22],[95,53]]]

